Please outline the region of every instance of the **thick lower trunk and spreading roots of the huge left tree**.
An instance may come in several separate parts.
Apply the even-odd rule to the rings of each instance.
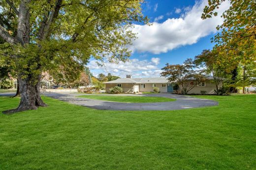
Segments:
[[[25,110],[35,110],[39,106],[47,106],[40,97],[40,80],[41,74],[38,75],[37,81],[34,78],[28,77],[26,79],[18,77],[21,94],[20,105],[16,109],[4,111],[4,114],[12,114]]]

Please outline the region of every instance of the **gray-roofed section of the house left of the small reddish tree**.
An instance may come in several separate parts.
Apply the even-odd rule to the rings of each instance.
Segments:
[[[173,92],[173,87],[164,77],[148,77],[148,78],[118,78],[113,81],[104,82],[106,84],[106,93],[110,93],[110,89],[115,86],[122,87],[125,93],[153,92],[154,87],[158,87],[160,93]]]

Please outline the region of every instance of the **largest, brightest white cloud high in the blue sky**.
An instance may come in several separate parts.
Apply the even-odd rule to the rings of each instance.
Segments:
[[[138,38],[133,42],[131,50],[159,54],[180,46],[192,45],[200,38],[216,32],[216,26],[222,24],[223,19],[218,15],[202,20],[201,14],[207,4],[207,0],[196,1],[194,6],[186,8],[181,18],[167,19],[161,24],[134,24],[133,31]],[[228,7],[229,2],[224,1],[218,10],[219,14]]]

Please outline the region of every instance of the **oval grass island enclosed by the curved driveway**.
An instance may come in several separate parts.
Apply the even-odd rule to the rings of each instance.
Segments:
[[[151,102],[166,102],[175,101],[174,98],[167,97],[139,97],[139,96],[110,96],[110,95],[84,95],[78,96],[82,98],[106,100],[106,101],[117,101],[127,103],[151,103]]]

